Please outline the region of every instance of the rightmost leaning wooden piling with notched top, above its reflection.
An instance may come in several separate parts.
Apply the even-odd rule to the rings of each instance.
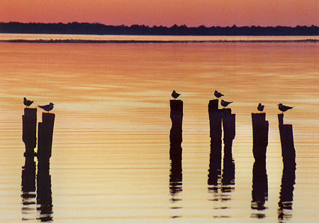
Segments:
[[[281,155],[284,168],[296,168],[296,150],[293,144],[293,127],[284,124],[284,114],[278,114]]]

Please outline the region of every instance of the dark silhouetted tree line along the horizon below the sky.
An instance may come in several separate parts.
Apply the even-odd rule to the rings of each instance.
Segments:
[[[319,35],[318,26],[242,26],[204,25],[148,26],[103,25],[101,23],[0,23],[0,33],[86,34],[86,35]]]

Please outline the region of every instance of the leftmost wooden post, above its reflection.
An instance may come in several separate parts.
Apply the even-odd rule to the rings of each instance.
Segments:
[[[37,109],[24,108],[22,115],[22,140],[26,146],[24,156],[34,156],[34,149],[37,144]]]

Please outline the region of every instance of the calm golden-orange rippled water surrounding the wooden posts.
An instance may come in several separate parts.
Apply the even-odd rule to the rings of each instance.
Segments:
[[[0,222],[317,222],[318,49],[309,42],[1,43]],[[173,89],[184,101],[178,183],[170,183]],[[208,101],[215,89],[233,101],[236,137],[235,183],[213,187]],[[55,103],[50,173],[47,186],[38,185],[45,204],[37,204],[41,193],[21,191],[24,96]],[[251,207],[251,113],[259,102],[269,120],[264,210]],[[295,106],[285,113],[297,163],[291,210],[278,204],[280,102]]]

